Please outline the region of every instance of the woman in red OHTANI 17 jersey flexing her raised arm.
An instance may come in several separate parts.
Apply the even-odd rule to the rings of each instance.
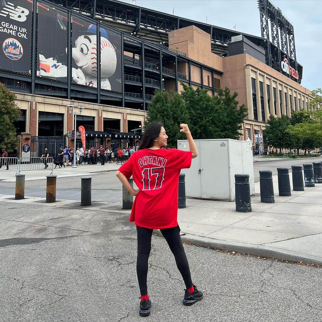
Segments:
[[[184,279],[187,289],[183,304],[192,305],[203,299],[203,293],[192,283],[177,222],[180,170],[190,168],[191,160],[198,156],[188,125],[180,124],[180,127],[180,132],[187,136],[190,151],[162,148],[167,145],[166,131],[162,123],[151,123],[143,134],[138,151],[116,172],[125,188],[136,196],[129,221],[135,222],[137,228],[137,279],[141,293],[141,316],[148,316],[151,307],[147,293],[147,270],[153,229],[162,232]],[[137,190],[128,183],[131,175]]]

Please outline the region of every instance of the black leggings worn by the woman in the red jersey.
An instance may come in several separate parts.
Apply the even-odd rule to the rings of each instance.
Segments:
[[[175,256],[175,263],[180,271],[185,286],[187,289],[191,288],[192,281],[187,257],[180,239],[179,226],[160,229],[162,235],[166,239],[170,250]],[[137,226],[137,279],[141,295],[147,294],[147,269],[148,260],[151,251],[151,237],[153,229],[142,228]]]

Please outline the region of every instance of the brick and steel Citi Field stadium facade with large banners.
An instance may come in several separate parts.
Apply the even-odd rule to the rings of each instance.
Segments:
[[[17,154],[73,146],[70,103],[83,107],[76,128],[89,145],[136,145],[155,89],[180,92],[181,82],[237,91],[248,108],[241,138],[264,146],[255,130],[270,114],[308,109],[311,92],[293,26],[270,1],[258,4],[262,37],[116,0],[2,1],[0,81],[22,110]]]

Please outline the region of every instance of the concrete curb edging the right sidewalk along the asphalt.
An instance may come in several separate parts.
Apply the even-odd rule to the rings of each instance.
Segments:
[[[160,230],[154,230],[158,235],[162,236]],[[181,236],[183,242],[188,242],[190,244],[218,248],[225,251],[235,251],[237,253],[246,253],[250,255],[256,255],[260,257],[272,257],[279,260],[287,260],[293,262],[303,262],[308,264],[317,264],[322,266],[322,258],[317,256],[311,256],[296,251],[287,251],[278,249],[275,247],[247,244],[241,242],[228,242],[224,240],[212,239],[202,236],[185,234]]]

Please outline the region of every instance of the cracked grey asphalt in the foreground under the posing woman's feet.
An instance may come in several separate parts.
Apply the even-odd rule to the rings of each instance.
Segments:
[[[134,322],[136,231],[128,214],[0,203],[0,321]],[[162,237],[152,237],[145,321],[321,321],[322,270],[185,245],[204,300],[184,283]]]

